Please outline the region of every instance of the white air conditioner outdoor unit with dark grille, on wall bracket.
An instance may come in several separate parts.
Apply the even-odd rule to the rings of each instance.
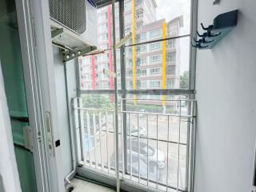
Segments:
[[[49,0],[50,27],[55,45],[70,50],[97,46],[97,8],[90,2]]]

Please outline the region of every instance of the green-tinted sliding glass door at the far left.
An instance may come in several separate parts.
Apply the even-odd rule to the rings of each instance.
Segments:
[[[0,0],[0,60],[9,107],[14,150],[22,191],[37,191],[33,153],[26,149],[23,128],[30,125],[18,21],[14,0]]]

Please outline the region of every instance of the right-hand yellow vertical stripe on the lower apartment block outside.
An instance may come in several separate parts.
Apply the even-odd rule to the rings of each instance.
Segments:
[[[166,22],[162,22],[162,38],[166,38]],[[166,41],[162,41],[162,89],[166,89]],[[162,95],[162,106],[166,106],[166,95]]]

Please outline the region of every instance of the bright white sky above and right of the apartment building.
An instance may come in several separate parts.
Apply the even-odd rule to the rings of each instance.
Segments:
[[[157,19],[166,18],[166,22],[183,16],[184,26],[181,28],[180,35],[190,33],[190,0],[155,0],[157,3]],[[180,70],[188,70],[190,52],[190,39],[180,39]]]

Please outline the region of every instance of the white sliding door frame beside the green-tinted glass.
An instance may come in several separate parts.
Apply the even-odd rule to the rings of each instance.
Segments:
[[[26,104],[33,127],[34,149],[31,151],[34,158],[34,170],[38,191],[49,191],[46,171],[46,153],[42,143],[42,109],[40,90],[38,89],[38,75],[35,66],[34,37],[31,27],[30,5],[27,0],[16,1],[18,18],[18,33],[22,54],[23,76],[26,89]]]

